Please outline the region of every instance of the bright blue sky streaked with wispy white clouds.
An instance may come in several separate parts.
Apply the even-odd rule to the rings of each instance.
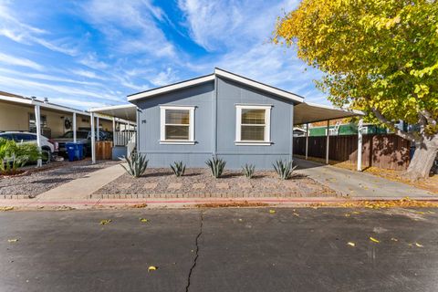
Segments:
[[[328,103],[269,37],[297,0],[0,0],[0,90],[80,109],[224,68]]]

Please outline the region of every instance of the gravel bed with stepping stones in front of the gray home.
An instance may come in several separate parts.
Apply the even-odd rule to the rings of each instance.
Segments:
[[[300,174],[280,181],[275,172],[256,172],[251,180],[240,172],[224,172],[222,178],[214,179],[208,169],[187,169],[178,178],[169,169],[148,169],[140,178],[124,174],[93,193],[102,198],[112,195],[120,198],[308,197],[336,196],[336,193]]]

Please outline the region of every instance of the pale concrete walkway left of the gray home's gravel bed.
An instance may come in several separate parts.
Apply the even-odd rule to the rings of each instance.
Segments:
[[[69,183],[39,194],[38,201],[44,200],[78,200],[90,197],[91,193],[98,191],[102,186],[117,179],[125,173],[120,164],[104,168],[97,172],[91,172],[84,177],[73,180]]]

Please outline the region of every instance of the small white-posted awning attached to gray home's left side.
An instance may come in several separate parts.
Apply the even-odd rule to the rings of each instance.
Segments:
[[[113,145],[112,156],[130,156],[137,144],[137,107],[133,104],[123,104],[117,106],[101,107],[90,109],[91,120],[94,116],[101,115],[112,119]],[[124,130],[116,131],[116,122],[126,121]],[[91,125],[91,159],[96,163],[96,141],[94,139],[94,126]]]

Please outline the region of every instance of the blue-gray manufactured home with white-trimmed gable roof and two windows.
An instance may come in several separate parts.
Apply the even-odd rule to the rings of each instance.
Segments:
[[[151,167],[205,167],[217,155],[230,169],[292,160],[294,106],[303,101],[221,69],[128,99],[138,108],[137,151]]]

